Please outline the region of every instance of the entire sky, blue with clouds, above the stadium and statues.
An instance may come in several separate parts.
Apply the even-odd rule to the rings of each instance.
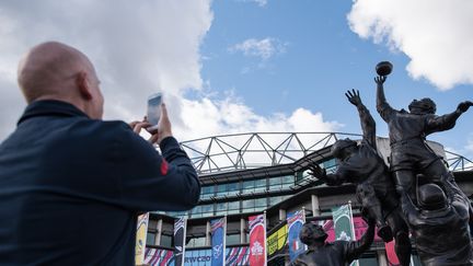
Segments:
[[[428,8],[426,8],[428,7]],[[25,102],[21,56],[59,41],[89,56],[105,119],[139,119],[163,91],[181,140],[247,131],[360,132],[345,91],[374,109],[374,66],[396,108],[430,96],[438,114],[472,100],[470,0],[55,0],[0,2],[0,139]],[[473,109],[429,139],[473,158]]]

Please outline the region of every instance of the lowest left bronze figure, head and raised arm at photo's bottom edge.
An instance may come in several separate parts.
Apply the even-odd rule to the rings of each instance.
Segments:
[[[302,243],[308,245],[308,250],[291,263],[292,266],[348,265],[371,246],[374,238],[374,222],[368,222],[368,230],[359,241],[327,243],[325,242],[327,234],[323,228],[311,222],[307,222],[302,227],[299,238]]]

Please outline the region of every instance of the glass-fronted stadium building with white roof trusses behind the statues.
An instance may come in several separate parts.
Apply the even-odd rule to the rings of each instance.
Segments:
[[[326,186],[307,173],[316,162],[327,173],[336,170],[331,146],[359,135],[338,132],[259,132],[208,137],[182,142],[201,181],[200,203],[185,212],[150,213],[145,262],[173,265],[173,227],[176,218],[187,218],[185,265],[210,265],[210,220],[227,217],[227,265],[249,265],[249,217],[266,213],[268,265],[288,265],[287,215],[304,210],[305,220],[333,230],[332,208],[351,203],[354,229],[359,236],[366,223],[359,218],[355,186]],[[378,149],[389,160],[389,141],[378,138]],[[446,159],[462,190],[473,194],[472,162],[429,141]],[[170,188],[172,189],[172,188]],[[330,233],[331,234],[331,233]],[[330,236],[331,238],[331,236]],[[413,245],[414,265],[420,265]],[[390,265],[392,251],[380,239],[359,259],[360,266]]]

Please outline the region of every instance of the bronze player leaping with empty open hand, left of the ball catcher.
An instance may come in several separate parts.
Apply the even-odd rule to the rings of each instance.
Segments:
[[[350,139],[337,140],[332,146],[332,155],[339,161],[336,172],[326,174],[318,164],[311,164],[311,174],[327,185],[341,185],[345,182],[356,184],[358,201],[362,211],[376,221],[378,235],[385,242],[390,242],[394,235],[401,265],[408,266],[408,228],[402,217],[389,169],[377,152],[374,119],[362,104],[358,91],[348,91],[345,95],[358,109],[362,128],[361,143],[357,144]]]

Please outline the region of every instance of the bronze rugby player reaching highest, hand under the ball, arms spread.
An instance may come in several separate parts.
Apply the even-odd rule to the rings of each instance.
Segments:
[[[414,100],[408,105],[409,112],[392,108],[384,97],[385,76],[374,78],[377,83],[377,111],[388,123],[391,144],[391,171],[394,173],[399,192],[406,190],[415,198],[416,174],[428,176],[431,182],[441,184],[451,178],[451,173],[425,142],[426,136],[436,131],[453,128],[461,114],[466,112],[472,102],[458,105],[453,113],[435,115],[436,104],[428,97]]]

